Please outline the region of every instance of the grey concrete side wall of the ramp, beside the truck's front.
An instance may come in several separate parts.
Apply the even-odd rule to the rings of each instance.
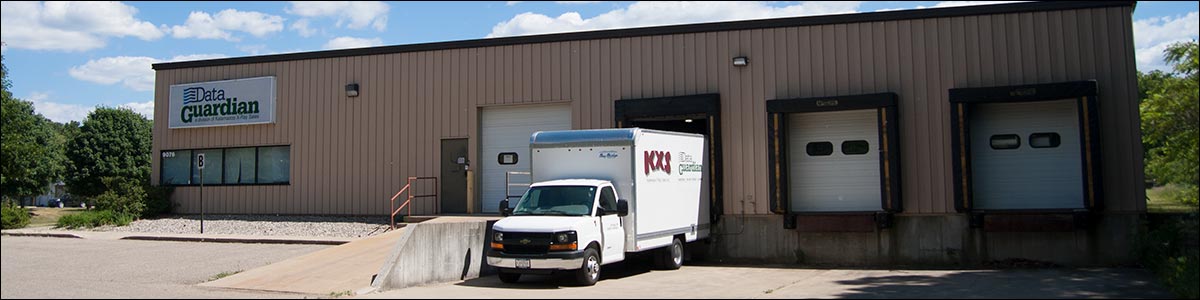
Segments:
[[[371,283],[372,289],[479,277],[488,271],[484,252],[490,224],[496,220],[499,217],[438,217],[409,224],[383,268],[377,269],[379,276]]]

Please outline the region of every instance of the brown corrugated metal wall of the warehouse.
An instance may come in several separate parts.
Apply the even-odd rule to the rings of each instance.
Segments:
[[[612,101],[719,92],[725,211],[770,214],[764,101],[899,94],[905,214],[954,212],[952,88],[1096,79],[1104,202],[1145,209],[1132,7],[624,37],[156,73],[155,154],[292,145],[288,186],[206,187],[210,212],[386,214],[409,175],[438,175],[442,138],[470,137],[479,107],[570,101],[575,128],[611,127]],[[750,58],[733,67],[733,56]],[[172,84],[276,76],[277,122],[167,128]],[[361,84],[361,96],[343,86]],[[486,158],[486,157],[485,157]],[[155,180],[160,160],[155,155]],[[475,180],[479,182],[480,180]],[[478,191],[478,190],[476,190]],[[182,212],[197,188],[180,187]],[[433,204],[420,204],[432,212]]]

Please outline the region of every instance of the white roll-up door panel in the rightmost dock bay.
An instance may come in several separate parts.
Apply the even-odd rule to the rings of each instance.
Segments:
[[[980,103],[971,110],[976,209],[1081,209],[1075,100]]]

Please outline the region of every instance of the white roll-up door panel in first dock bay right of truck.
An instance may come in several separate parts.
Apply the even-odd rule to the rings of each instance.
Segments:
[[[876,109],[788,116],[792,211],[878,211],[880,132]]]

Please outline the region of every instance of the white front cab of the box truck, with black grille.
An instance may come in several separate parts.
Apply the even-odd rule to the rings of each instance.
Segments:
[[[595,283],[600,265],[625,259],[622,217],[628,204],[617,200],[612,182],[566,179],[538,182],[515,208],[500,204],[509,216],[492,226],[488,264],[500,280],[516,282],[521,274],[576,271],[576,280]]]

